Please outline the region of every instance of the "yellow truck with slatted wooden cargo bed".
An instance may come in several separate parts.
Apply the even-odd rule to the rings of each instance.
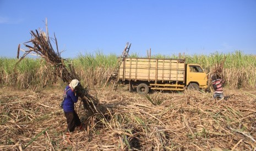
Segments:
[[[207,88],[207,74],[200,65],[186,64],[186,59],[151,59],[123,57],[119,62],[118,80],[129,91],[139,94],[149,90],[200,90]]]

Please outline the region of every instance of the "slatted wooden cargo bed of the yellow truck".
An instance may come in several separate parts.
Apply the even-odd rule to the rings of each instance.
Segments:
[[[184,82],[185,68],[184,59],[124,58],[119,64],[118,78],[135,82]]]

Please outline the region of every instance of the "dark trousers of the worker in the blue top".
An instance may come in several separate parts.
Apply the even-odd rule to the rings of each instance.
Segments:
[[[81,121],[75,111],[73,112],[64,112],[65,117],[67,118],[68,131],[73,132],[75,127],[81,125]]]

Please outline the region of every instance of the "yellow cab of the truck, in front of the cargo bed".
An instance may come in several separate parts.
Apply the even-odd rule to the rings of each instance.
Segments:
[[[190,82],[196,82],[200,88],[207,87],[207,75],[199,65],[188,65],[187,67],[187,85]]]

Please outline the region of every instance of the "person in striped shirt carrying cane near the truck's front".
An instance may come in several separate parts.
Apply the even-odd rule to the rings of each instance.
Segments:
[[[214,88],[213,97],[216,98],[217,100],[220,100],[221,98],[224,97],[222,83],[223,83],[222,79],[217,78],[215,74],[211,76],[211,84],[213,85],[213,88]]]

